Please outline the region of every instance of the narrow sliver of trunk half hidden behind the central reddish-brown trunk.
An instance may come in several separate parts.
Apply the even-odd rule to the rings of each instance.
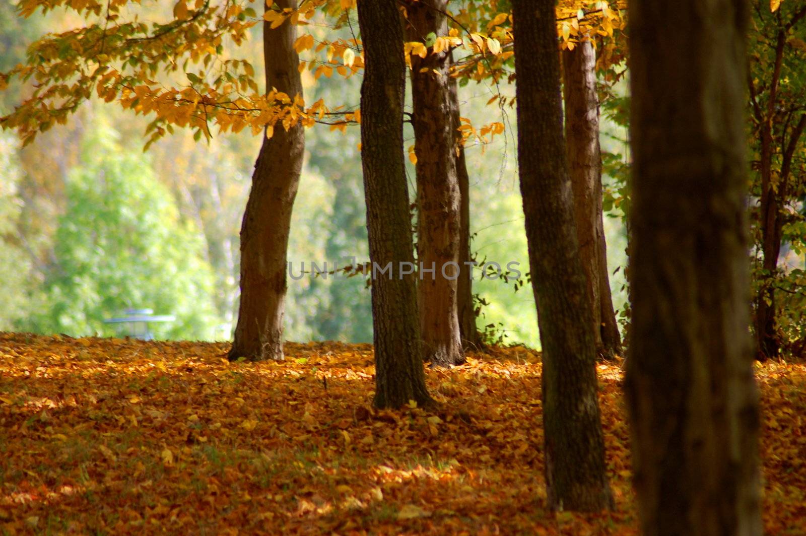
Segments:
[[[459,280],[456,285],[456,308],[459,315],[459,335],[462,349],[481,345],[476,328],[476,310],[473,307],[473,270],[470,264],[470,176],[464,158],[464,143],[459,133],[459,88],[456,79],[448,80],[451,89],[451,129],[455,136],[456,178],[459,181]]]

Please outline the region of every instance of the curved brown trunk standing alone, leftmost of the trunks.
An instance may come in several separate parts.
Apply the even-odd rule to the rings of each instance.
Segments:
[[[297,2],[277,0],[274,5],[296,7]],[[302,95],[296,39],[297,27],[289,21],[275,29],[264,23],[266,88],[292,98]],[[230,359],[283,359],[286,253],[304,152],[300,123],[288,131],[277,125],[260,147],[241,224],[241,298]]]

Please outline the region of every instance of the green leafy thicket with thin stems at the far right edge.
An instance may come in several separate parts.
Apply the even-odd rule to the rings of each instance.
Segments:
[[[781,2],[772,13],[756,0],[750,39],[750,224],[754,297],[775,294],[775,323],[783,350],[806,355],[804,332],[804,252],[806,252],[806,7],[802,2]],[[768,132],[771,146],[767,162],[762,140]],[[776,197],[780,222],[781,255],[776,269],[762,264],[765,224],[761,200],[768,166],[768,191]],[[771,227],[772,228],[772,227]],[[770,233],[768,233],[770,234]],[[767,261],[769,262],[769,260]]]

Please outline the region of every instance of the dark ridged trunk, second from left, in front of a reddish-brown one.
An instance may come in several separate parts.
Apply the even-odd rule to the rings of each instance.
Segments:
[[[359,0],[364,44],[361,84],[361,164],[367,203],[372,279],[375,405],[397,408],[409,400],[430,405],[422,368],[413,239],[403,154],[405,58],[395,0]]]

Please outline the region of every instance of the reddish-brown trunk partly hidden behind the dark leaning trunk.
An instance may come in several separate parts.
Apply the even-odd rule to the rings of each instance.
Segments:
[[[599,97],[596,94],[596,51],[590,41],[563,52],[565,143],[576,236],[588,277],[596,352],[605,358],[621,353],[621,337],[613,311],[602,214],[602,168],[599,147]]]

